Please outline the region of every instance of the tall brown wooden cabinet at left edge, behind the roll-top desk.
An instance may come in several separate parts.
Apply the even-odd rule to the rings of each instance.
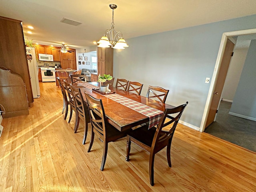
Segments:
[[[34,100],[21,21],[0,16],[0,26],[0,66],[4,66],[21,76],[26,85],[26,99],[30,105]],[[0,76],[0,81],[1,78],[3,77]],[[19,97],[18,92],[12,94],[15,94],[17,98]],[[1,102],[2,98],[0,98]],[[8,100],[7,102],[14,101]]]

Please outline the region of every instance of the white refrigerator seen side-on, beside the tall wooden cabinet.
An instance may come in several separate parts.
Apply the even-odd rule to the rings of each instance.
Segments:
[[[40,87],[39,87],[39,80],[38,80],[38,64],[36,61],[35,48],[26,47],[26,54],[27,54],[27,60],[28,60],[28,69],[30,74],[33,98],[40,98]]]

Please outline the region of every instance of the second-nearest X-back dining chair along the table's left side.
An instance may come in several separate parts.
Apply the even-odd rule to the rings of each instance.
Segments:
[[[78,130],[80,119],[84,121],[84,139],[83,144],[85,144],[87,132],[88,132],[88,123],[90,123],[90,114],[87,103],[84,101],[80,88],[70,86],[71,91],[74,96],[75,106],[76,106],[76,126],[74,127],[74,132]]]

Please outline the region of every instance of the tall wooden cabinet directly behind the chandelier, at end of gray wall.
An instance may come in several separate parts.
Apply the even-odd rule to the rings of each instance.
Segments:
[[[98,75],[110,74],[113,76],[113,53],[112,48],[98,47]]]

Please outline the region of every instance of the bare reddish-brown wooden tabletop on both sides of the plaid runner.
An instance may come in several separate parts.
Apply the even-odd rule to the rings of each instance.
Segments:
[[[100,84],[98,82],[88,82],[88,83],[95,85],[95,86],[100,86]],[[126,107],[123,104],[120,104],[110,98],[107,98],[106,96],[104,96],[102,94],[94,92],[94,91],[92,91],[82,85],[76,84],[76,83],[74,83],[73,86],[75,86],[76,88],[80,88],[80,90],[82,92],[82,96],[85,101],[86,101],[86,97],[85,97],[84,92],[93,96],[94,98],[101,99],[107,121],[110,124],[112,124],[115,128],[117,128],[119,131],[125,131],[134,126],[138,126],[140,124],[143,124],[143,123],[146,123],[149,121],[148,116],[141,114],[140,112],[137,112],[129,107]],[[116,94],[119,94],[126,98],[130,98],[132,100],[135,100],[137,102],[140,102],[142,104],[148,105],[152,108],[156,108],[161,111],[164,111],[166,108],[174,108],[175,107],[175,106],[172,106],[169,104],[164,104],[162,102],[148,99],[144,96],[140,96],[140,95],[137,95],[137,94],[134,94],[131,92],[121,90],[119,88],[115,88],[113,86],[109,86],[109,89],[116,92]]]

